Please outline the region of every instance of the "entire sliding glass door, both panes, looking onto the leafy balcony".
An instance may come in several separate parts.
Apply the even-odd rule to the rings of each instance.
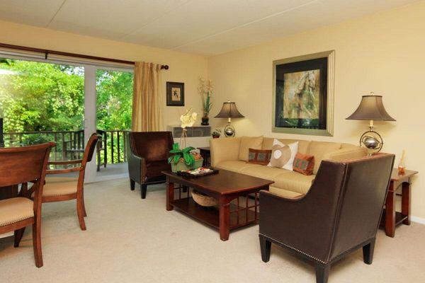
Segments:
[[[55,141],[54,160],[81,158],[101,136],[86,182],[125,177],[132,69],[0,55],[0,115],[6,146]],[[0,117],[1,117],[0,116]]]

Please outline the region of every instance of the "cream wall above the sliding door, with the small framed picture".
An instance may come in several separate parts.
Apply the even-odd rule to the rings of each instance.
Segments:
[[[98,57],[167,64],[169,69],[162,71],[164,124],[179,124],[179,115],[188,107],[193,107],[198,112],[202,109],[197,88],[198,78],[207,76],[205,57],[4,21],[0,21],[0,42]],[[186,107],[166,107],[166,81],[185,83]]]

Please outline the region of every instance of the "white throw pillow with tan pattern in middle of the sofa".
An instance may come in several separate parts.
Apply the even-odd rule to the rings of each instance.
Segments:
[[[270,163],[267,166],[293,171],[295,155],[298,151],[298,141],[293,144],[283,144],[278,139],[273,140]]]

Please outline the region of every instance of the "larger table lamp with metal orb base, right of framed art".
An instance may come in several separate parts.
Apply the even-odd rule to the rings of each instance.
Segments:
[[[346,120],[369,120],[369,131],[360,137],[360,146],[370,151],[378,152],[382,149],[384,142],[377,132],[373,131],[373,121],[395,121],[384,108],[382,96],[375,96],[373,92],[369,96],[361,98],[360,105]]]

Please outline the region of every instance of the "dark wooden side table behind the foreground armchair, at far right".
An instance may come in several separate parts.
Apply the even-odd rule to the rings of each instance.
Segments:
[[[417,173],[417,171],[407,170],[400,175],[397,168],[392,169],[390,187],[388,187],[387,200],[385,200],[385,209],[380,224],[385,227],[385,234],[389,237],[394,237],[395,226],[410,225],[410,185],[412,176]],[[402,211],[396,212],[395,197],[400,186],[402,186]]]

